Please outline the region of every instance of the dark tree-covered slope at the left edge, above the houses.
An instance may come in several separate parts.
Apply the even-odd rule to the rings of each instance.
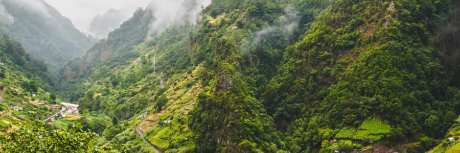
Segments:
[[[48,100],[48,94],[54,94],[55,82],[47,65],[43,60],[31,57],[19,42],[10,40],[8,35],[3,35],[0,39],[0,62],[3,63],[0,64],[0,90],[4,92],[3,100]],[[33,94],[37,97],[33,97]]]

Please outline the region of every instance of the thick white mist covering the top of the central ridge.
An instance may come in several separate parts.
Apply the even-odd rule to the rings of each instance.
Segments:
[[[201,5],[208,6],[209,4],[211,4],[211,0],[152,1],[147,6],[154,17],[150,23],[149,35],[161,34],[173,24],[195,23],[196,14],[200,11]]]

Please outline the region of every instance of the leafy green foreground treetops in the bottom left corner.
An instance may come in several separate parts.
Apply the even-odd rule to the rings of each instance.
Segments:
[[[112,149],[110,144],[102,146],[90,145],[99,136],[94,132],[81,131],[80,123],[76,123],[69,131],[64,129],[46,131],[45,123],[34,121],[32,127],[20,127],[15,132],[0,133],[2,152],[125,152]]]

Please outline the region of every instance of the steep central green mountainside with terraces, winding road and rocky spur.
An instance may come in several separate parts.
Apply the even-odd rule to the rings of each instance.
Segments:
[[[238,151],[244,149],[248,144],[260,142],[267,142],[268,146],[281,145],[282,142],[275,142],[279,139],[271,140],[263,136],[265,132],[275,135],[272,133],[276,130],[273,128],[274,124],[270,123],[271,117],[264,113],[263,106],[252,96],[260,97],[265,84],[268,83],[266,78],[275,75],[276,69],[273,67],[280,65],[286,46],[294,42],[293,30],[298,24],[297,15],[307,18],[302,23],[312,22],[314,16],[327,7],[328,2],[261,1],[249,4],[241,10],[223,8],[218,5],[210,6],[204,9],[203,14],[200,14],[198,25],[172,26],[160,36],[147,38],[145,38],[146,35],[140,34],[143,34],[142,30],[146,23],[148,24],[146,12],[148,13],[149,10],[138,10],[131,19],[121,25],[120,29],[111,32],[107,39],[95,44],[81,59],[72,61],[66,66],[61,80],[64,90],[61,90],[61,93],[71,101],[84,105],[89,113],[99,112],[107,114],[112,119],[127,120],[124,123],[107,127],[103,136],[106,141],[110,140],[114,144],[128,142],[135,150],[145,149],[147,145],[142,144],[139,138],[128,137],[129,133],[134,132],[134,125],[140,121],[134,117],[139,118],[144,112],[142,109],[147,108],[154,100],[157,101],[156,106],[159,109],[167,111],[148,116],[151,120],[146,123],[155,123],[144,123],[141,125],[141,130],[146,132],[147,139],[162,151],[190,152],[195,149],[213,151],[215,146],[208,148],[202,144],[215,139],[221,141],[219,149],[226,151]],[[317,6],[321,7],[315,8]],[[222,8],[219,9],[219,7]],[[256,7],[262,9],[257,10]],[[215,10],[219,14],[229,13],[214,19],[206,10]],[[286,13],[289,11],[298,12]],[[239,30],[233,31],[232,27],[235,26],[238,26]],[[145,37],[142,38],[142,36]],[[126,39],[128,37],[136,39],[132,41],[133,39]],[[115,40],[117,43],[113,43]],[[134,45],[134,42],[140,44]],[[128,48],[128,44],[134,46]],[[121,52],[117,53],[115,50],[117,47],[121,48],[120,46],[126,47],[123,53],[129,56],[118,56]],[[104,52],[106,54],[103,54]],[[102,55],[107,55],[107,57],[102,58]],[[156,59],[155,66],[153,66],[153,59]],[[200,65],[199,68],[198,65]],[[153,73],[154,71],[157,71],[166,81],[166,87],[177,87],[161,89],[160,80]],[[257,80],[252,79],[252,76],[257,76]],[[196,79],[196,82],[185,77],[192,77]],[[232,83],[227,84],[229,80]],[[201,87],[201,89],[196,87]],[[198,95],[200,91],[204,92]],[[225,94],[236,99],[228,99],[224,96]],[[195,101],[195,99],[202,100],[202,102],[196,103],[199,108],[195,108],[192,116],[187,115],[189,110],[194,108],[195,103],[191,100]],[[208,101],[210,99],[220,99],[220,104],[217,101],[216,103]],[[158,100],[163,102],[159,103]],[[228,107],[221,108],[221,105]],[[232,107],[240,105],[245,108]],[[212,110],[219,111],[217,114],[208,112]],[[235,110],[241,111],[240,114],[244,118],[232,118],[221,122],[215,126],[215,130],[211,126],[202,127],[212,121],[211,118],[199,117],[201,114],[203,114],[201,116],[209,114],[209,116],[214,115],[221,118],[225,117],[226,113]],[[247,113],[249,114],[244,115]],[[189,119],[190,117],[193,117],[193,122]],[[168,118],[173,127],[166,128],[161,124]],[[221,118],[221,120],[224,119]],[[264,130],[256,134],[247,134],[252,133],[252,129],[239,133],[239,128],[247,126],[244,120],[250,120],[254,122],[254,124],[250,123],[250,126]],[[232,125],[228,129],[219,129],[223,124],[229,122],[232,122]],[[206,135],[202,130],[208,128],[211,128],[209,130],[213,132]],[[165,138],[162,136],[165,133],[175,136]],[[231,135],[229,136],[231,138],[219,138],[223,135]],[[241,136],[243,137],[236,138]],[[183,137],[189,138],[184,139]],[[248,140],[245,141],[245,139]],[[226,145],[222,143],[223,140],[231,142],[231,146],[223,147]],[[243,141],[245,143],[240,145]],[[139,145],[143,147],[137,147]],[[264,149],[277,150],[276,148]]]

